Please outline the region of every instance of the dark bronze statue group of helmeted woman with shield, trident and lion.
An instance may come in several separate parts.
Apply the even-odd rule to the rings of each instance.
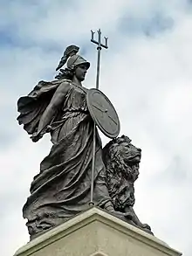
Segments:
[[[99,41],[92,37],[92,42],[98,45],[99,59],[101,47],[107,48],[107,38],[106,45],[102,45],[100,31],[98,33]],[[126,169],[122,162],[115,168],[110,167],[110,164],[119,164],[112,156],[115,151],[120,154],[119,148],[124,142],[130,146],[129,139],[115,138],[119,135],[120,123],[111,102],[98,90],[99,61],[96,89],[82,86],[90,63],[78,52],[78,46],[68,46],[56,69],[59,70],[56,80],[38,82],[31,93],[17,102],[20,113],[17,121],[24,125],[32,142],[50,133],[53,144],[50,154],[40,164],[39,174],[33,178],[31,196],[23,208],[31,239],[86,211],[90,205],[152,233],[133,210],[134,180],[141,155],[134,158],[134,169],[130,167],[134,162],[126,156]],[[104,150],[96,125],[113,138]],[[127,200],[123,202],[122,198]]]

